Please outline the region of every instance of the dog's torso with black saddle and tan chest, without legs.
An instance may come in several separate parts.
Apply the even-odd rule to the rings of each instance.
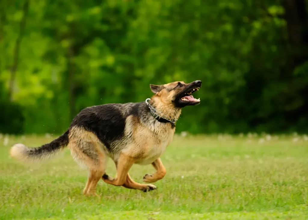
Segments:
[[[154,146],[160,152],[159,145],[163,144],[165,149],[168,144],[168,141],[161,143],[160,140],[171,140],[174,133],[170,124],[156,121],[148,112],[145,102],[88,107],[72,121],[69,142],[80,142],[80,136],[84,136],[82,133],[93,134],[102,143],[102,150],[112,159],[116,160],[125,150],[142,162],[142,159],[156,155],[148,152],[147,148]],[[84,152],[87,150],[90,149],[83,149]]]

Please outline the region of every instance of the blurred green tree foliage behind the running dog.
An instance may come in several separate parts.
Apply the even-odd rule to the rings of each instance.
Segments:
[[[307,62],[293,64],[279,0],[30,1],[10,88],[26,1],[0,3],[0,81],[26,133],[60,133],[87,106],[177,80],[203,81],[177,131],[307,131]]]

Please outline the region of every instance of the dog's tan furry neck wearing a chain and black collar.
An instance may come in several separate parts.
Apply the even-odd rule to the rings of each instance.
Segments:
[[[176,108],[172,102],[164,102],[158,96],[152,96],[150,104],[156,109],[156,111],[173,118],[175,120],[179,119],[181,114],[181,109]]]

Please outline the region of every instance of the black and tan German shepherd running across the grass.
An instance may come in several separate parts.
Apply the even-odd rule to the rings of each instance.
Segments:
[[[133,164],[152,164],[156,172],[145,174],[144,182],[154,183],[165,176],[166,169],[160,155],[172,141],[181,108],[200,103],[200,99],[191,95],[200,87],[200,80],[189,84],[183,81],[150,84],[155,94],[145,102],[87,107],[75,116],[68,130],[51,143],[35,148],[18,143],[11,147],[10,156],[22,162],[35,163],[67,146],[74,160],[88,169],[83,194],[96,195],[100,179],[128,189],[154,190],[155,185],[133,181],[128,171]],[[105,173],[107,157],[115,163],[115,178]]]

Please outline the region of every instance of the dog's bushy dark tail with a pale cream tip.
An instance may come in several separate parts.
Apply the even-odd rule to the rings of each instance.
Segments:
[[[38,163],[54,156],[68,144],[68,134],[63,135],[41,147],[27,147],[24,144],[14,144],[10,149],[10,156],[24,163]]]

